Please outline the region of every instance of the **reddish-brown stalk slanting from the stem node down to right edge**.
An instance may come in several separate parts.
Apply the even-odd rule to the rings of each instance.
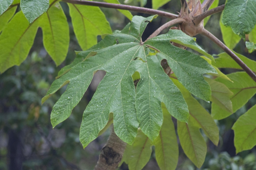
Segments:
[[[256,82],[256,75],[253,73],[253,71],[244,64],[244,62],[236,56],[236,54],[231,51],[224,43],[222,43],[218,38],[216,38],[212,33],[207,31],[206,29],[202,29],[201,32],[202,35],[208,37],[210,40],[212,40],[215,44],[217,44],[221,49],[223,49],[230,57],[232,57],[236,63],[241,66],[244,71]]]

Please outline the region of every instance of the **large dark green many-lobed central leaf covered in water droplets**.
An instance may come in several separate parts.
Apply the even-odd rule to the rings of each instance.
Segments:
[[[60,70],[58,79],[52,83],[47,95],[42,99],[43,103],[69,83],[65,93],[52,109],[53,127],[70,116],[97,70],[105,70],[106,75],[84,111],[80,128],[80,141],[84,147],[94,140],[108,123],[110,112],[114,115],[116,135],[129,144],[133,143],[139,125],[150,140],[153,141],[159,135],[163,123],[162,103],[173,117],[188,122],[187,104],[160,64],[164,58],[171,63],[174,73],[179,75],[178,78],[188,89],[202,90],[200,93],[194,92],[197,96],[209,96],[210,100],[211,90],[210,87],[207,89],[209,85],[204,81],[202,74],[217,72],[203,58],[172,46],[171,35],[168,35],[169,40],[160,37],[146,43],[140,41],[148,22],[155,17],[133,17],[131,24],[122,31],[106,35],[100,43],[78,53],[70,66]],[[163,49],[160,48],[161,41]],[[160,49],[161,52],[154,55],[153,49]],[[136,90],[132,79],[135,72],[140,78]],[[190,80],[196,82],[197,87],[193,87],[193,83],[188,85]],[[204,85],[208,86],[205,88]]]

